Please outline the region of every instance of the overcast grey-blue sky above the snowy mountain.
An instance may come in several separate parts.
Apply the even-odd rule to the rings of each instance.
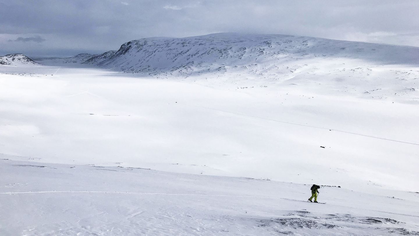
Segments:
[[[419,0],[0,0],[0,55],[98,53],[219,32],[419,47]]]

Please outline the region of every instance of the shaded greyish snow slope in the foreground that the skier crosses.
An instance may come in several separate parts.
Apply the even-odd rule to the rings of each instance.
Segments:
[[[323,205],[310,184],[252,178],[28,160],[0,173],[5,236],[419,235],[414,192],[322,186]]]

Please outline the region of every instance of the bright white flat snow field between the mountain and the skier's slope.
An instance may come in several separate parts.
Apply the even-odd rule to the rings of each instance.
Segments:
[[[2,154],[419,189],[416,104],[305,87],[222,89],[89,68],[23,70],[26,76],[2,75]]]

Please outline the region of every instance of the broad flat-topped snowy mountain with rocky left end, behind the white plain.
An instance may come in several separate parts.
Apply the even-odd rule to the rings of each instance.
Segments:
[[[216,77],[214,84],[252,79],[258,86],[321,85],[364,97],[416,97],[419,90],[418,47],[289,35],[145,38],[124,43],[113,56],[93,64],[159,78]]]

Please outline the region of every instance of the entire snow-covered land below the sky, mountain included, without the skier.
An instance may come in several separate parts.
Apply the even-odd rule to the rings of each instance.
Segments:
[[[418,121],[418,47],[221,33],[5,55],[0,235],[419,235]]]

